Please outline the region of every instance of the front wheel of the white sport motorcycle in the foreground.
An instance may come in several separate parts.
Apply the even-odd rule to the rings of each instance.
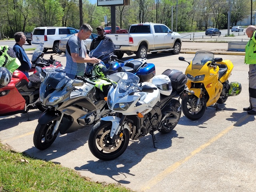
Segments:
[[[118,158],[124,153],[129,144],[130,134],[127,129],[124,130],[121,138],[117,138],[114,143],[111,143],[111,128],[112,122],[100,121],[90,131],[89,149],[100,160],[109,161]]]

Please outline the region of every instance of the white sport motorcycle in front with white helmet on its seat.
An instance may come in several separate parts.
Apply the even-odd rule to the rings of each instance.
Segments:
[[[89,134],[92,154],[101,160],[113,160],[126,150],[129,139],[137,140],[154,132],[171,132],[181,115],[180,98],[187,96],[186,85],[175,90],[164,74],[152,78],[152,83],[139,83],[139,77],[125,72],[108,92],[107,104],[115,116],[101,118]]]

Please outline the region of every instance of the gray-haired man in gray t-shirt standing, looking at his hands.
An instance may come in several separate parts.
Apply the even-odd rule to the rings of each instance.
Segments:
[[[86,54],[84,40],[92,34],[92,27],[89,24],[83,24],[77,34],[70,37],[66,48],[66,75],[74,79],[75,76],[83,76],[86,70],[86,62],[98,63],[97,58],[90,58]]]

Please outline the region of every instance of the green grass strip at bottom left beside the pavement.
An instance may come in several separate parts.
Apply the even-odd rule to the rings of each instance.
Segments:
[[[0,143],[0,192],[132,192],[91,182],[70,168],[24,156]]]

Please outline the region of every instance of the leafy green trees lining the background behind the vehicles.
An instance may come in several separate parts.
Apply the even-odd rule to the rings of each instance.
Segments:
[[[129,6],[116,6],[116,25],[129,28],[134,23],[158,22],[175,31],[223,29],[228,26],[228,2],[230,26],[250,15],[251,2],[253,10],[256,7],[255,0],[130,0]],[[1,0],[0,12],[5,15],[0,20],[0,39],[13,37],[18,31],[31,32],[40,26],[80,28],[79,0]],[[83,22],[93,29],[99,25],[110,26],[110,12],[110,7],[82,0]],[[104,16],[107,16],[107,24]]]

